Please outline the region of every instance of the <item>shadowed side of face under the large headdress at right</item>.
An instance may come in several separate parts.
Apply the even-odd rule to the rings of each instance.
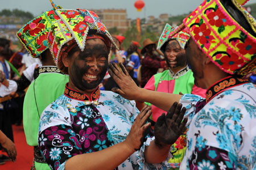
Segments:
[[[201,88],[204,82],[204,72],[203,72],[203,58],[202,55],[205,55],[197,46],[196,42],[192,39],[189,39],[185,45],[185,56],[187,58],[188,65],[191,67],[193,76],[195,78],[195,85]]]

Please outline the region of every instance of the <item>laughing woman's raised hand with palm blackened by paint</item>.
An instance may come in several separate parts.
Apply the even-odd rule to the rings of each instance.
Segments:
[[[183,129],[187,123],[184,118],[186,109],[182,108],[182,104],[175,102],[165,115],[164,113],[155,123],[155,143],[159,147],[174,144],[179,136],[183,133]],[[183,120],[183,122],[181,122]]]

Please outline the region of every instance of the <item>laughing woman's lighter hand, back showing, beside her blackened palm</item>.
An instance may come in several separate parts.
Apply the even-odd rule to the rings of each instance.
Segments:
[[[139,150],[143,145],[143,139],[146,135],[146,129],[150,128],[150,123],[147,123],[147,119],[151,114],[151,107],[146,105],[136,117],[133,126],[131,126],[130,133],[125,139],[126,144],[134,151]]]

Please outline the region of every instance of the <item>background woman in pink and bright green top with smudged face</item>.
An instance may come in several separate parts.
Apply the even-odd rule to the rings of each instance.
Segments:
[[[194,94],[205,97],[206,90],[195,86],[193,73],[187,65],[184,46],[189,39],[189,33],[185,29],[177,33],[174,37],[169,37],[170,32],[175,28],[169,24],[163,29],[163,33],[159,38],[158,48],[164,54],[164,59],[168,65],[168,70],[153,75],[148,80],[144,89],[151,91],[166,92],[168,94]],[[137,102],[138,103],[138,102]],[[146,103],[151,105],[151,103]],[[151,105],[153,122],[163,113],[167,113],[162,109]],[[186,135],[183,134],[172,146],[175,151],[174,157],[169,160],[170,167],[179,169],[186,150]]]

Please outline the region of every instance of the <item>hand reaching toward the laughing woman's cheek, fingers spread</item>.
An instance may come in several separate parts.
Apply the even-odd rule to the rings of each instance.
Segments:
[[[120,66],[120,67],[119,67]],[[136,100],[139,95],[140,88],[131,78],[125,66],[122,63],[110,63],[109,74],[120,88],[112,88],[112,91],[125,97],[128,100]]]

